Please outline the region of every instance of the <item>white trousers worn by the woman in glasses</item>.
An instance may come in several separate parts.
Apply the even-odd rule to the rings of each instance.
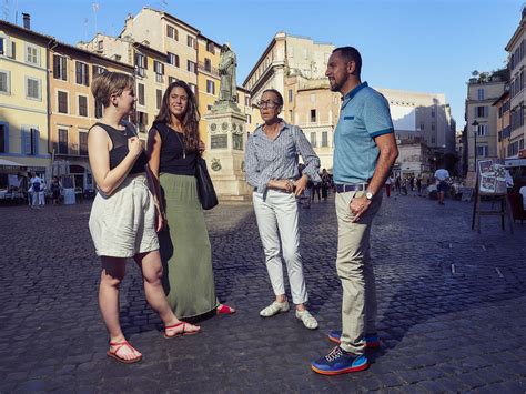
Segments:
[[[283,263],[280,256],[282,251],[291,284],[292,302],[296,305],[307,302],[308,295],[300,255],[297,203],[294,194],[267,190],[266,199],[263,200],[262,193],[254,192],[253,203],[274,294],[285,294]]]

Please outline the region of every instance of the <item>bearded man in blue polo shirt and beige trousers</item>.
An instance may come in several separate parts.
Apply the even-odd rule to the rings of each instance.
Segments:
[[[332,91],[342,93],[334,131],[334,183],[338,242],[336,269],[342,281],[342,331],[338,343],[312,363],[324,375],[367,368],[366,347],[378,347],[376,285],[370,255],[373,218],[382,203],[382,188],[398,155],[387,100],[361,81],[362,57],[352,47],[336,48],[326,75]]]

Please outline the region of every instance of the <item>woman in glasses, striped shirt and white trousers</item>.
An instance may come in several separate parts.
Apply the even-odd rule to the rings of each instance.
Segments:
[[[290,309],[280,256],[282,251],[292,301],[296,305],[296,319],[307,329],[317,329],[316,319],[305,307],[308,295],[300,255],[295,196],[306,190],[308,181],[321,181],[320,159],[303,131],[279,118],[283,109],[283,97],[277,90],[265,90],[257,105],[264,123],[246,141],[246,182],[254,188],[254,212],[275,295],[274,302],[263,309],[260,315],[270,317]],[[297,153],[305,163],[302,173],[297,166]]]

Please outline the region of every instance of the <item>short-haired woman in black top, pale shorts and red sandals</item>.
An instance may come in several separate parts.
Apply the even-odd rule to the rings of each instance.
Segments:
[[[107,354],[124,364],[142,358],[125,340],[119,322],[119,286],[128,257],[142,270],[146,300],[164,323],[164,336],[200,331],[175,317],[160,281],[154,201],[145,178],[148,159],[133,127],[123,122],[134,108],[134,84],[131,75],[118,72],[103,72],[93,80],[91,91],[104,112],[88,135],[91,171],[99,190],[90,232],[102,264],[99,305],[110,334]]]

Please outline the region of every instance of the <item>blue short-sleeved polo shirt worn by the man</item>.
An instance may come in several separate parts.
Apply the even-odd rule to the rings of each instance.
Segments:
[[[380,154],[374,138],[392,132],[390,104],[381,93],[367,82],[348,92],[334,131],[334,182],[367,182]]]

